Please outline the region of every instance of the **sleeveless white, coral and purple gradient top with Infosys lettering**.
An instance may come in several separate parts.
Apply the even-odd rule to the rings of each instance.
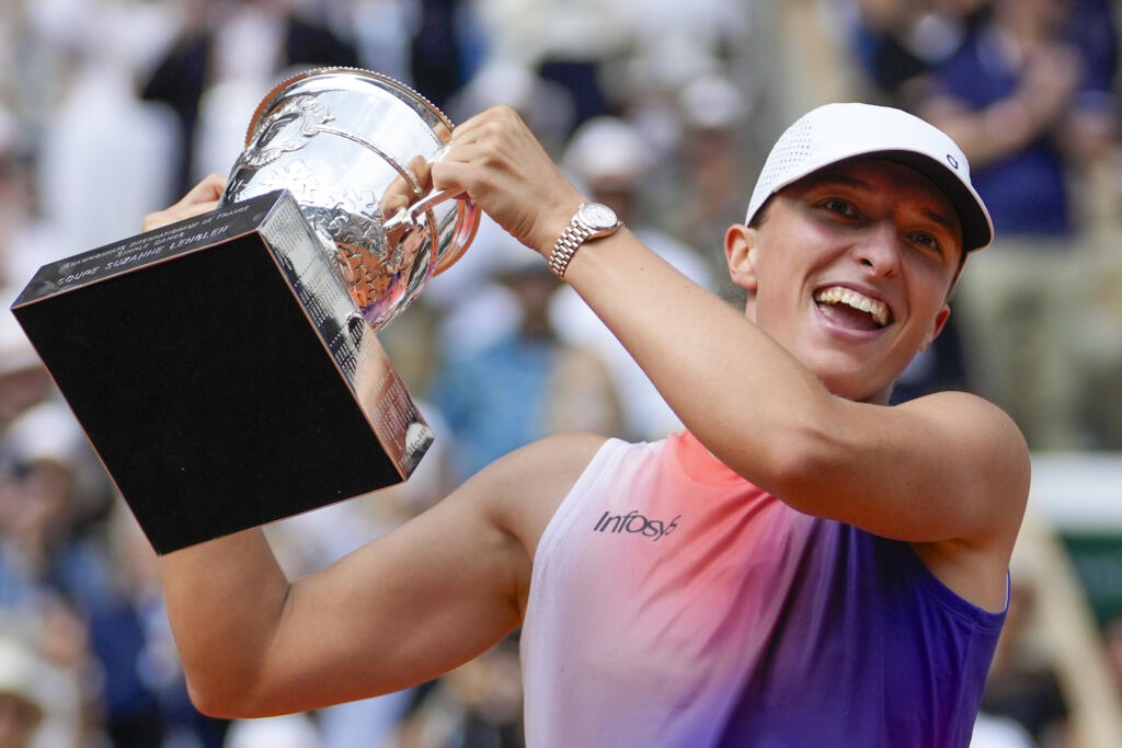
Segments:
[[[967,746],[1003,621],[909,544],[791,509],[688,433],[609,440],[534,558],[526,741]]]

